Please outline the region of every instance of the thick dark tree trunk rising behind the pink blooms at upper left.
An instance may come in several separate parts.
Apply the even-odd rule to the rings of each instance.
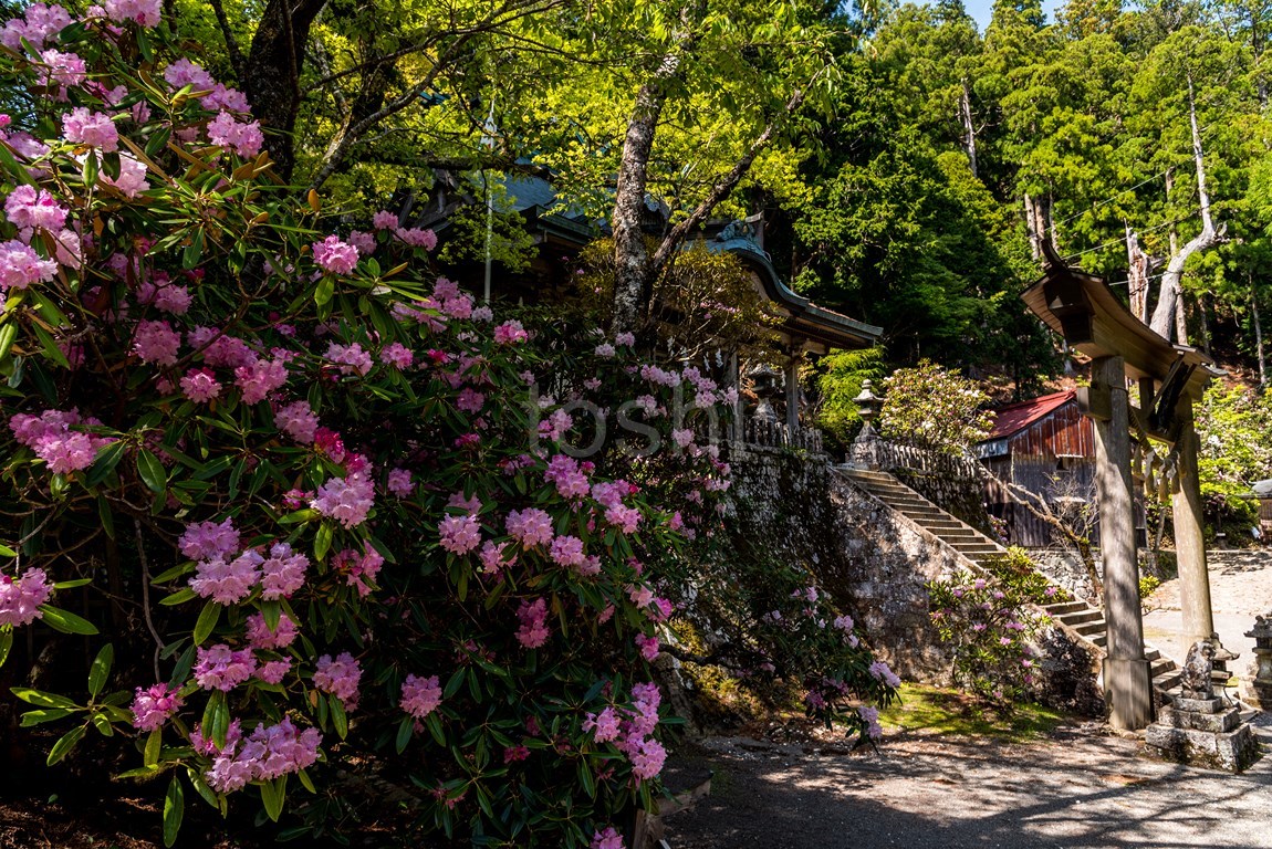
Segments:
[[[305,43],[314,18],[327,0],[268,0],[252,37],[243,72],[243,88],[252,100],[252,114],[265,130],[265,147],[273,159],[273,173],[284,182],[295,168],[296,114],[300,111],[300,71]]]

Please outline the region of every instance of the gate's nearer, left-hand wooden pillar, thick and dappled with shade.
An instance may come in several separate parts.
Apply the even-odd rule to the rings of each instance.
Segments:
[[[1152,679],[1144,657],[1140,615],[1140,568],[1135,559],[1135,513],[1131,482],[1131,417],[1122,357],[1091,362],[1091,409],[1095,418],[1095,492],[1100,508],[1104,558],[1104,698],[1114,728],[1144,728],[1154,719]]]

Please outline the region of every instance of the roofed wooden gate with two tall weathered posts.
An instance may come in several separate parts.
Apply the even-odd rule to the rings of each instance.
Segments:
[[[1021,295],[1029,309],[1091,357],[1091,385],[1079,394],[1084,414],[1095,422],[1095,492],[1099,501],[1100,552],[1104,559],[1104,618],[1108,656],[1104,693],[1109,722],[1144,728],[1154,717],[1152,681],[1144,656],[1140,569],[1135,553],[1131,479],[1131,432],[1173,446],[1172,487],[1175,552],[1179,559],[1184,644],[1208,639],[1215,630],[1210,576],[1202,538],[1201,488],[1197,479],[1197,431],[1193,402],[1224,374],[1194,348],[1172,344],[1132,315],[1103,278],[1068,268],[1043,243],[1046,272]],[[1131,403],[1128,379],[1138,385]]]

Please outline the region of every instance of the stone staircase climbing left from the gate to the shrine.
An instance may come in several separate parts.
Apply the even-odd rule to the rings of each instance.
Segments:
[[[927,530],[973,564],[979,566],[982,560],[1006,553],[1006,549],[997,541],[941,510],[887,472],[840,468],[840,473],[857,488]],[[1067,630],[1088,643],[1089,648],[1095,648],[1096,655],[1104,655],[1108,637],[1104,613],[1099,608],[1076,600],[1047,605],[1044,610],[1052,619],[1063,624]],[[1179,665],[1151,646],[1144,648],[1145,657],[1150,661],[1152,686],[1161,696],[1165,696],[1179,686]]]

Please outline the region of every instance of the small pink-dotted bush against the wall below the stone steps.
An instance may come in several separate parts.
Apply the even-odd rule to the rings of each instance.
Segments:
[[[954,656],[954,681],[996,709],[1010,713],[1028,698],[1039,674],[1033,648],[1047,627],[1032,605],[1063,601],[1028,553],[1011,548],[983,562],[986,577],[960,572],[930,581],[931,620]]]

